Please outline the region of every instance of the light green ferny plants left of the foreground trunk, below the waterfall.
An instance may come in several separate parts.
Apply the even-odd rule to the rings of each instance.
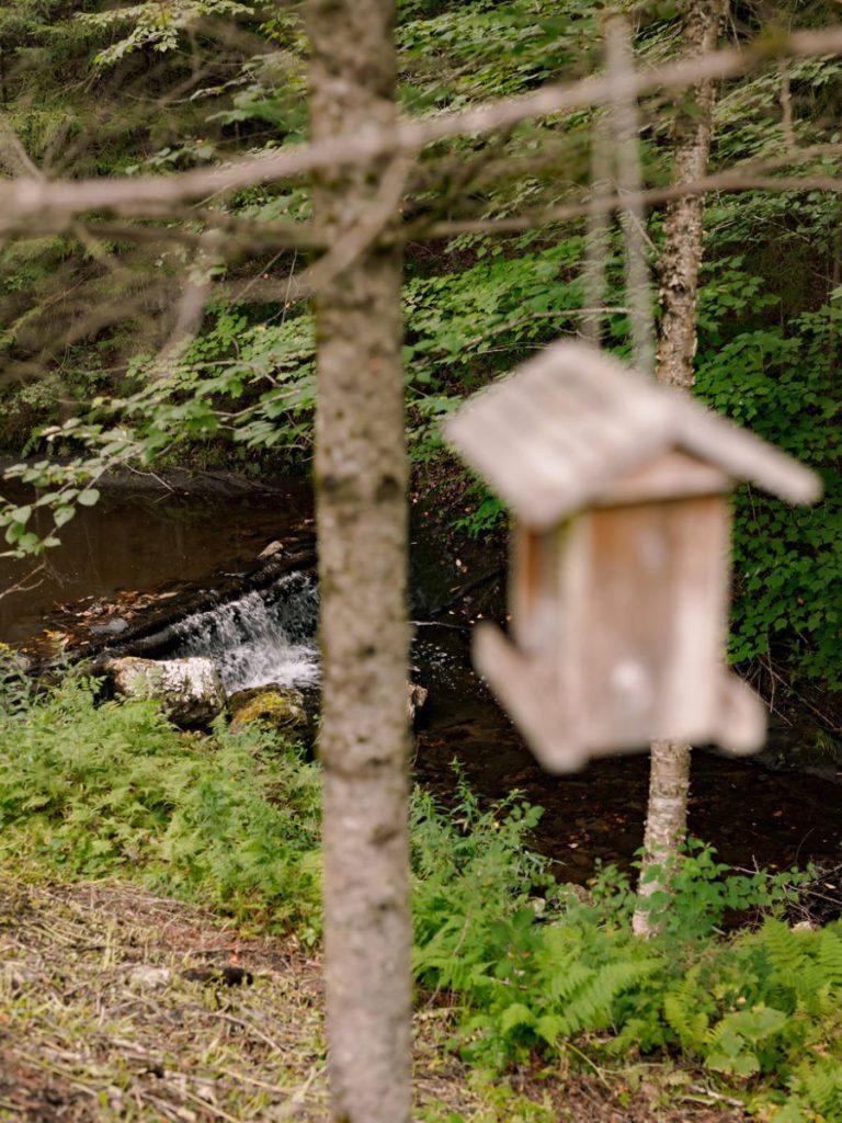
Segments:
[[[92,684],[71,677],[0,716],[0,852],[25,848],[74,876],[139,877],[312,937],[315,766],[254,729],[183,734],[152,702],[93,703]]]

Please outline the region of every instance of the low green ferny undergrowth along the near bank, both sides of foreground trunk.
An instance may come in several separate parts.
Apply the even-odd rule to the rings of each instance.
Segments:
[[[264,930],[319,934],[318,766],[276,734],[180,733],[154,703],[95,705],[68,677],[0,715],[0,857],[119,875]],[[540,810],[484,809],[461,783],[412,810],[415,973],[461,1010],[483,1069],[542,1054],[588,1066],[668,1054],[705,1067],[777,1123],[842,1120],[842,925],[793,930],[806,875],[741,875],[692,843],[632,935],[628,876],[585,893],[529,847]],[[738,910],[747,923],[723,921]]]

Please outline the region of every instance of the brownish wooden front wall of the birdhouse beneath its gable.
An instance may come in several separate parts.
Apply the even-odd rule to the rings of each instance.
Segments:
[[[559,536],[556,666],[577,742],[715,737],[730,524],[708,495],[588,510]]]

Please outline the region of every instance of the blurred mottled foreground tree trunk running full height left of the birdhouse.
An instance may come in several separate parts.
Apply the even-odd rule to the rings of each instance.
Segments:
[[[394,122],[392,9],[388,0],[309,0],[314,140]],[[370,222],[383,171],[319,176],[317,220],[329,244],[364,217]],[[404,1123],[410,1115],[400,309],[400,254],[376,245],[329,279],[315,301],[324,971],[332,1115],[342,1123]]]

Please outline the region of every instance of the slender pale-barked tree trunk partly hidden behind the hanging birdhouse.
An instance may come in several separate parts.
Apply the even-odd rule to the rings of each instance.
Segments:
[[[725,15],[726,0],[685,0],[685,43],[688,54],[713,49]],[[678,183],[693,182],[707,171],[713,136],[714,88],[704,83],[695,91],[690,111],[679,113],[675,127]],[[667,213],[661,256],[661,323],[657,375],[667,385],[693,385],[696,353],[696,302],[702,263],[704,197],[679,199]],[[687,829],[690,785],[690,747],[676,741],[656,741],[651,749],[649,805],[643,839],[643,869],[639,892],[647,897],[663,886],[651,877],[651,867],[668,867]],[[649,935],[657,917],[638,909],[634,931]]]

